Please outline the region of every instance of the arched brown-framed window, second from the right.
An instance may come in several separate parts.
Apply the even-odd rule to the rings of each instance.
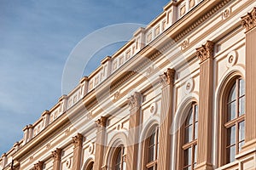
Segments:
[[[195,169],[197,156],[198,106],[194,103],[183,126],[183,170]]]

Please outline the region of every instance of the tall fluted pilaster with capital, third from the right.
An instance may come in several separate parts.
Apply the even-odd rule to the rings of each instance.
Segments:
[[[171,162],[171,133],[172,124],[172,101],[173,101],[173,82],[175,70],[168,68],[167,71],[160,75],[162,84],[162,99],[160,113],[160,141],[158,169],[170,169]]]

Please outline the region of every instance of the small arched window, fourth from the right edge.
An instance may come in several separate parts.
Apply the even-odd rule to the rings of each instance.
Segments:
[[[114,170],[125,170],[125,147],[119,146],[114,154],[113,169]]]

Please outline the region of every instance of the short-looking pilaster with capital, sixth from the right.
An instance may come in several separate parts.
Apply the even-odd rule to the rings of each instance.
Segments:
[[[78,133],[73,137],[73,167],[72,170],[81,169],[82,147],[84,136]]]

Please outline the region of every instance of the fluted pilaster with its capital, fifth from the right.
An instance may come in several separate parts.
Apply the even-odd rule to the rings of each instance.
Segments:
[[[106,127],[107,117],[102,116],[96,121],[97,133],[96,133],[96,155],[93,164],[94,170],[102,170],[102,161],[105,150],[105,138],[106,138]]]

